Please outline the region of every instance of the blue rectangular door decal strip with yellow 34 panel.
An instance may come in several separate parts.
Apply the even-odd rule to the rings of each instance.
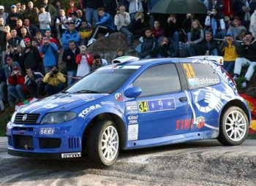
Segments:
[[[157,112],[176,109],[174,98],[138,101],[139,112]]]

